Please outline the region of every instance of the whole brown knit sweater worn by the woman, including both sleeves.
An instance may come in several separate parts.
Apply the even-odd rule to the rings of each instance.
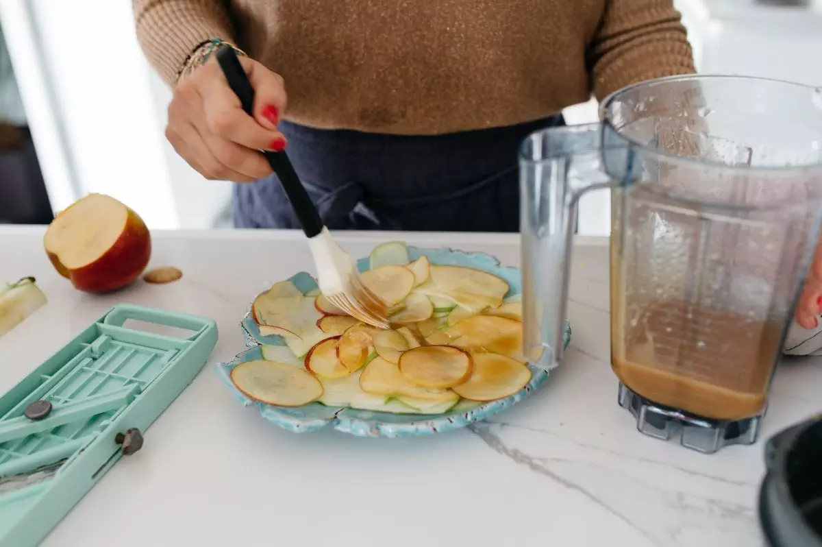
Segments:
[[[197,44],[233,40],[283,76],[284,118],[436,134],[541,118],[694,72],[672,0],[133,0],[173,85]]]

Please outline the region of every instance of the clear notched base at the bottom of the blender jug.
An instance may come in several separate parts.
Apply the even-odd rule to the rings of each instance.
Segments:
[[[650,437],[668,440],[680,433],[680,444],[697,452],[713,454],[733,444],[753,444],[760,433],[762,414],[742,420],[713,420],[658,405],[632,392],[620,382],[619,404],[630,410],[636,429]]]

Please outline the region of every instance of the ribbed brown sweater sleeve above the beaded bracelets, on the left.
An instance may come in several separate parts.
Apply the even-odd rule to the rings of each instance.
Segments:
[[[132,0],[132,8],[145,57],[172,86],[199,44],[233,37],[229,12],[221,0]]]

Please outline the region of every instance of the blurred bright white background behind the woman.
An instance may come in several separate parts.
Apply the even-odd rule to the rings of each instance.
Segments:
[[[677,0],[700,72],[822,85],[822,0]],[[131,0],[0,0],[0,17],[55,211],[105,192],[153,229],[209,228],[229,184],[207,181],[164,138],[169,90],[145,62]],[[596,119],[593,103],[566,110]],[[607,192],[584,198],[580,231],[609,233]]]

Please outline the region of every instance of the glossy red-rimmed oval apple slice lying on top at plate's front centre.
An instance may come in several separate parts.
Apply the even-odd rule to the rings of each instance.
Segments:
[[[450,345],[424,345],[399,357],[399,372],[421,387],[445,389],[471,375],[471,356]]]

